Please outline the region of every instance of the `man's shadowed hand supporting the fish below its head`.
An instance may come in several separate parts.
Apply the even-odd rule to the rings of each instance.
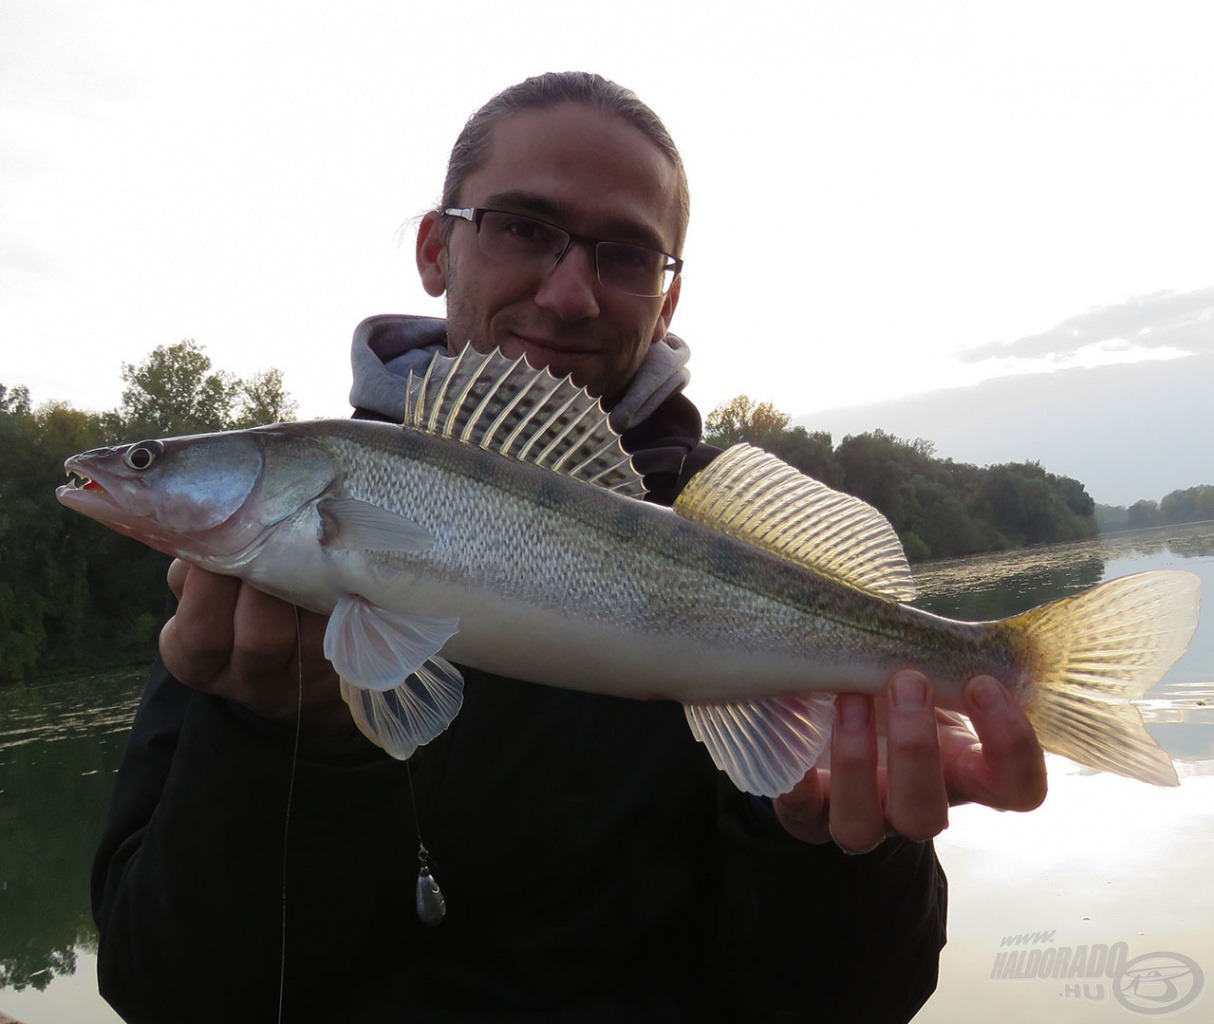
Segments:
[[[169,588],[178,604],[160,630],[160,656],[174,677],[282,725],[294,725],[302,705],[311,748],[356,737],[324,657],[328,618],[181,560],[169,566]]]

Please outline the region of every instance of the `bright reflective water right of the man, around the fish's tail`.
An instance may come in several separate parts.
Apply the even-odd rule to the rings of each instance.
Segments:
[[[936,844],[949,877],[949,944],[915,1024],[1133,1020],[1142,1011],[1118,1003],[1116,979],[998,977],[1009,950],[1117,943],[1134,958],[1168,952],[1197,963],[1208,991],[1170,1019],[1214,1019],[1214,524],[938,562],[917,578],[934,611],[991,618],[1156,568],[1196,573],[1206,596],[1189,652],[1138,702],[1181,785],[1145,786],[1048,756],[1039,810],[955,808]]]

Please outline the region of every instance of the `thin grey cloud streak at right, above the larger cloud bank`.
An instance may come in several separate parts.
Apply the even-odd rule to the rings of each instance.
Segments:
[[[1059,364],[1134,362],[1214,352],[1214,287],[1155,292],[1097,306],[1042,334],[995,341],[958,353],[963,363],[988,360]]]

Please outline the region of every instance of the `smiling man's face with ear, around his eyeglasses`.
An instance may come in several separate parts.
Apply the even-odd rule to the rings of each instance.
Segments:
[[[575,234],[632,242],[674,253],[677,233],[674,164],[614,114],[574,103],[522,111],[498,123],[489,158],[465,181],[461,207],[535,216]],[[447,293],[452,351],[477,351],[573,374],[583,387],[614,395],[636,373],[649,345],[665,336],[679,281],[658,298],[603,288],[594,254],[574,243],[561,264],[539,273],[494,262],[467,221],[422,221],[418,267],[431,295]]]

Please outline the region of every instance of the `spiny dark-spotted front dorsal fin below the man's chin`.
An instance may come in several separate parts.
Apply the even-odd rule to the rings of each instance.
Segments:
[[[640,498],[641,475],[602,403],[568,377],[465,345],[409,374],[405,428],[452,437],[574,480]]]

